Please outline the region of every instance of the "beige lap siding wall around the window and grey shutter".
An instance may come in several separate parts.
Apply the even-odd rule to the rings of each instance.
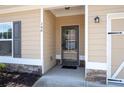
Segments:
[[[21,21],[22,58],[40,58],[40,10],[0,15],[1,22]]]

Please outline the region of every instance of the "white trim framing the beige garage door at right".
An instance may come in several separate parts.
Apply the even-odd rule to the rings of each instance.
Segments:
[[[106,57],[107,57],[107,82],[108,82],[108,79],[112,79],[111,77],[111,65],[112,65],[112,60],[111,60],[111,52],[112,52],[112,36],[108,34],[108,32],[111,32],[112,31],[112,28],[111,28],[111,21],[112,19],[124,19],[124,12],[123,13],[110,13],[110,14],[107,14],[107,31],[106,31],[106,42],[107,42],[107,54],[106,54]],[[115,80],[118,80],[118,79],[115,79]],[[120,80],[120,79],[119,79]],[[119,83],[124,83],[124,79],[121,79],[122,82],[119,82]],[[114,82],[117,82],[118,81],[114,81]]]

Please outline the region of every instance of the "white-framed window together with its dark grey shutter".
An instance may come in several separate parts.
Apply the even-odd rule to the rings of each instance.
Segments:
[[[21,21],[0,23],[0,56],[21,57]]]

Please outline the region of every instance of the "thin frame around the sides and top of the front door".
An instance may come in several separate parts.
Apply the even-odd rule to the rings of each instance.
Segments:
[[[63,26],[78,26],[78,63],[80,65],[80,25],[79,24],[68,24],[68,25],[61,25],[60,26],[60,54],[61,54],[61,63],[62,63],[62,27]]]

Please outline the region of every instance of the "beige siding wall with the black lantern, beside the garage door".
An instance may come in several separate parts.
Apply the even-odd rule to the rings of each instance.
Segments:
[[[90,5],[88,7],[88,61],[106,62],[107,14],[120,12],[124,12],[124,6]],[[96,16],[100,17],[100,23],[94,23]]]

